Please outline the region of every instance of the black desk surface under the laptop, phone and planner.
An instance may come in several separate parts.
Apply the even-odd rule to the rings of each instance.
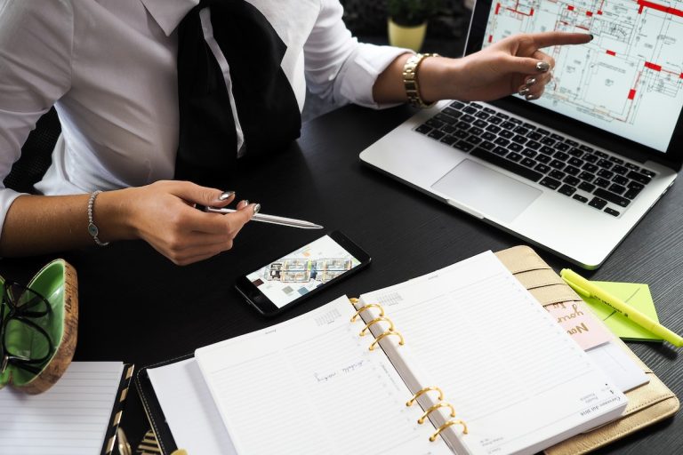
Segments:
[[[454,211],[361,164],[358,153],[409,116],[348,107],[305,124],[297,146],[269,158],[241,163],[237,196],[263,212],[342,229],[373,256],[373,264],[277,320],[246,307],[232,283],[278,253],[313,240],[319,231],[259,223],[246,226],[232,251],[189,267],[176,267],[146,243],[69,252],[80,291],[76,360],[125,360],[138,366],[259,329],[338,297],[371,291],[445,267],[480,251],[518,244],[511,235]],[[674,185],[595,279],[649,283],[662,322],[683,332],[683,185]],[[577,239],[580,241],[580,239]],[[539,251],[552,267],[567,264]],[[3,259],[0,273],[26,279],[49,258]],[[590,274],[589,274],[590,275]],[[675,350],[631,343],[638,355],[679,396],[683,363]],[[148,425],[137,394],[129,395],[122,423],[137,443]],[[683,451],[683,419],[669,419],[600,453]],[[197,454],[191,454],[197,455]]]

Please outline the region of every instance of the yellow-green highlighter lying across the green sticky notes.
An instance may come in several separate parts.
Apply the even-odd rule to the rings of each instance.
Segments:
[[[583,276],[576,274],[574,271],[568,268],[563,269],[559,275],[562,276],[565,282],[569,284],[569,286],[571,286],[572,289],[574,289],[576,293],[579,294],[584,300],[590,303],[591,299],[597,299],[602,306],[608,307],[608,312],[611,313],[612,311],[615,311],[621,318],[623,318],[624,324],[622,325],[625,325],[625,323],[638,325],[643,331],[650,333],[648,339],[665,339],[675,347],[683,346],[683,338],[681,338],[677,333],[674,333],[673,331],[670,331],[664,327],[657,321],[656,317],[652,318],[650,315],[639,311],[639,309],[624,302],[623,299],[619,299],[619,297],[607,289],[599,286],[597,283],[583,278]],[[603,311],[605,310],[603,309]],[[606,323],[609,321],[609,319],[607,319]]]

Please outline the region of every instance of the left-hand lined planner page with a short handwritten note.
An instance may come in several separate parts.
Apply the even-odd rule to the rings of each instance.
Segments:
[[[411,393],[342,297],[195,358],[237,453],[446,454]]]

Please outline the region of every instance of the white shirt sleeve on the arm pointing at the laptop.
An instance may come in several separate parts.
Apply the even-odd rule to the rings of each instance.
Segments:
[[[339,0],[321,0],[317,21],[304,45],[309,91],[334,104],[353,102],[387,108],[374,101],[377,76],[409,49],[358,43],[342,20]]]

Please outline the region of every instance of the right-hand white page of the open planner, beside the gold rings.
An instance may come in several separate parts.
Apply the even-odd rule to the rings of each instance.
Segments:
[[[436,385],[454,406],[468,429],[447,428],[456,448],[535,453],[615,419],[626,405],[619,388],[490,251],[361,301],[379,303],[403,334],[403,347],[398,337],[381,343],[409,387]],[[366,320],[375,310],[364,312]],[[435,413],[437,425],[449,418],[444,414]]]

